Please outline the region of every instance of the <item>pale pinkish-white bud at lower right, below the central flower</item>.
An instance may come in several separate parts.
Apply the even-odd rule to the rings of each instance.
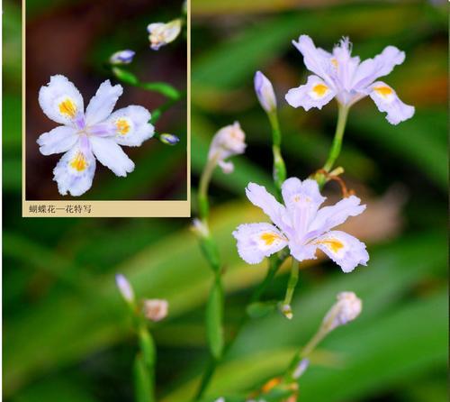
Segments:
[[[354,292],[338,293],[337,299],[338,301],[329,309],[322,321],[323,331],[329,332],[353,321],[363,309],[363,302]]]

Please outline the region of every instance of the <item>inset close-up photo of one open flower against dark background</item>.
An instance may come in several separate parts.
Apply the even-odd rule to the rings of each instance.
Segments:
[[[24,213],[187,200],[187,3],[23,5]]]

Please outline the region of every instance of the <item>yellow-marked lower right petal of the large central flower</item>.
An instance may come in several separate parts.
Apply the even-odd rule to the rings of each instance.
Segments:
[[[358,265],[367,265],[369,260],[365,243],[345,232],[331,231],[325,233],[312,244],[325,252],[344,272],[351,272]]]

